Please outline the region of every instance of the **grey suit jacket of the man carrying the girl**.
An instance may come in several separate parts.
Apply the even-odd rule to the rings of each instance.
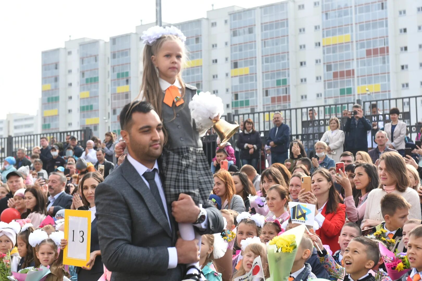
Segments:
[[[179,281],[184,266],[168,269],[168,247],[176,244],[177,224],[162,213],[136,169],[125,160],[95,189],[99,244],[112,281]],[[208,206],[204,206],[208,207]],[[169,208],[171,210],[171,208]],[[214,207],[206,208],[208,229],[219,233],[223,219]]]

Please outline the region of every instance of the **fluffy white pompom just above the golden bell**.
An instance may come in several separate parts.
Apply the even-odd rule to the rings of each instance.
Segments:
[[[210,92],[200,92],[193,96],[192,101],[189,102],[189,109],[200,136],[204,136],[214,125],[213,118],[222,116],[224,113],[222,99]]]

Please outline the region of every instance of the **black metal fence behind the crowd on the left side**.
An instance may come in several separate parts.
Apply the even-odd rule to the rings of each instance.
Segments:
[[[21,147],[26,148],[28,150],[28,155],[31,155],[32,147],[40,146],[40,138],[43,136],[45,136],[49,142],[54,137],[57,142],[64,143],[67,135],[76,136],[78,143],[84,147],[87,140],[92,138],[92,129],[87,127],[74,131],[33,134],[26,136],[8,136],[0,138],[0,161],[3,163],[4,158],[8,156],[16,156],[17,150]]]

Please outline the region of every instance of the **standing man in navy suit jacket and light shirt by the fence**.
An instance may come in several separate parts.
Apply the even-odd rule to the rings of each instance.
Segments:
[[[273,116],[274,128],[271,128],[267,145],[271,147],[271,163],[284,163],[288,157],[290,145],[290,127],[283,124],[280,112]]]

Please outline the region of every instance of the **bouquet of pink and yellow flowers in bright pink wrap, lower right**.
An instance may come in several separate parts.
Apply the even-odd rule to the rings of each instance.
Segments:
[[[409,270],[411,270],[406,253],[394,254],[381,243],[378,245],[381,256],[384,259],[384,264],[385,268],[387,269],[388,276],[390,276],[392,280],[400,279]]]

